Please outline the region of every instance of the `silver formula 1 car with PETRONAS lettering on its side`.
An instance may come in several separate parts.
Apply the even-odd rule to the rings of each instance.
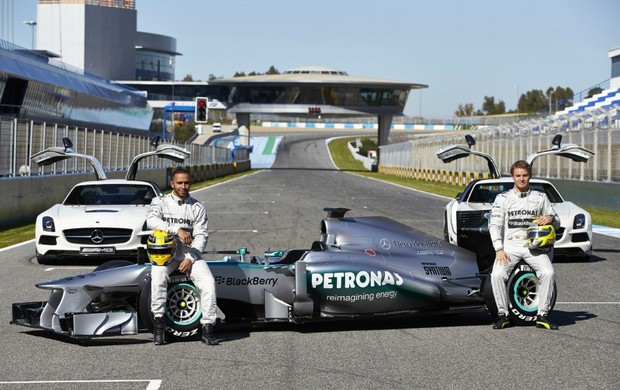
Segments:
[[[385,217],[346,217],[326,208],[321,236],[309,249],[244,250],[210,260],[218,317],[230,322],[303,323],[328,319],[413,316],[488,309],[490,283],[469,250]],[[93,272],[37,283],[47,302],[13,304],[12,323],[73,337],[152,330],[150,264],[116,260]],[[509,280],[513,323],[533,323],[534,272],[515,268]],[[485,305],[486,298],[486,305]],[[183,274],[168,287],[166,330],[172,339],[198,334],[200,296]]]

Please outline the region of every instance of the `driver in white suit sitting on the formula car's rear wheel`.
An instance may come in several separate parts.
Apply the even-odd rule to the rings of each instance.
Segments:
[[[539,304],[536,326],[557,329],[547,315],[555,273],[549,250],[529,249],[526,245],[526,229],[536,220],[540,225],[560,226],[560,220],[551,207],[547,195],[529,188],[532,168],[526,161],[519,160],[510,167],[515,182],[514,188],[495,198],[491,210],[489,233],[495,249],[495,263],[491,272],[493,295],[497,304],[498,320],[494,329],[510,326],[508,317],[508,275],[520,260],[525,260],[536,271],[539,279]]]

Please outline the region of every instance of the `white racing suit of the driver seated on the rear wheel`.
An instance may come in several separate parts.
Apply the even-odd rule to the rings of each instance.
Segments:
[[[539,279],[538,314],[546,315],[551,305],[551,293],[555,274],[549,256],[551,250],[530,250],[527,247],[526,230],[536,217],[553,215],[553,227],[560,227],[560,219],[551,207],[547,195],[539,191],[503,192],[495,198],[491,209],[489,233],[495,251],[501,249],[510,257],[508,265],[493,265],[491,284],[499,315],[508,315],[508,275],[520,260],[525,260],[536,271]]]

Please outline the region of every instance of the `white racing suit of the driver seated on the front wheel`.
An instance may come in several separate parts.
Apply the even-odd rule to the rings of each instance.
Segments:
[[[168,275],[174,272],[181,261],[189,258],[192,261],[190,278],[200,290],[200,304],[202,307],[202,325],[215,324],[217,304],[215,299],[215,280],[213,274],[202,259],[202,251],[207,246],[209,234],[207,232],[207,209],[192,198],[176,197],[174,194],[154,198],[151,201],[146,224],[149,229],[165,230],[177,234],[179,229],[192,233],[190,246],[178,245],[174,261],[166,266],[153,265],[151,267],[151,311],[153,316],[162,317],[165,312]]]

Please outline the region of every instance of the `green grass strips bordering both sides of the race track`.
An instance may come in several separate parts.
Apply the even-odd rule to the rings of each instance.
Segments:
[[[397,176],[391,176],[381,174],[377,172],[368,172],[364,165],[354,159],[347,148],[347,143],[360,137],[351,138],[339,138],[333,140],[329,144],[329,150],[334,160],[334,163],[338,169],[343,171],[350,171],[355,174],[370,177],[377,180],[383,180],[394,184],[399,184],[404,187],[413,188],[420,191],[431,192],[433,194],[443,195],[450,198],[456,196],[456,194],[463,190],[464,187],[455,186],[445,183],[435,183],[425,180],[406,179]],[[253,171],[236,173],[234,175],[220,177],[213,180],[207,180],[204,182],[198,182],[192,184],[192,189],[197,190],[203,187],[209,187],[214,184],[222,183],[228,180],[236,179],[238,177],[252,173]],[[609,226],[614,228],[620,228],[620,211],[595,209],[592,207],[583,207],[592,215],[592,222],[595,225]],[[34,223],[9,228],[3,231],[0,235],[0,248],[18,244],[20,242],[28,241],[34,238]]]

